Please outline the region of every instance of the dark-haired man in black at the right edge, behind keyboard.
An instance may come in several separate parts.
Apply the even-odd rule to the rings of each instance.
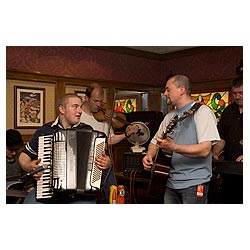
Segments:
[[[213,147],[213,158],[220,155],[226,161],[243,162],[243,76],[232,81],[231,93],[234,102],[228,105],[218,123],[221,140]],[[222,202],[243,203],[243,176],[222,175]]]

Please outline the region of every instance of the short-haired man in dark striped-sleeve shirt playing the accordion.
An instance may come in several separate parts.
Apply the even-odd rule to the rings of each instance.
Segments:
[[[41,135],[53,135],[58,129],[80,129],[86,124],[80,122],[80,117],[82,114],[82,99],[80,96],[74,93],[68,93],[60,97],[57,101],[57,118],[53,122],[44,124],[42,127],[37,129],[30,141],[25,146],[23,152],[21,153],[19,160],[22,168],[27,171],[33,171],[39,167],[41,159],[38,159],[38,140]],[[88,126],[89,127],[89,126]],[[82,141],[82,147],[85,146],[84,141]],[[114,179],[113,168],[111,167],[110,157],[105,151],[102,155],[95,159],[96,166],[103,170],[103,186],[105,192],[105,199],[107,199],[109,186],[116,184]],[[33,177],[35,180],[39,180],[43,174],[43,171],[35,173]],[[106,178],[107,176],[107,178]],[[56,200],[40,201],[36,199],[36,188],[29,193],[24,204],[37,204],[37,203],[67,203],[67,204],[95,204],[99,201],[98,194],[83,194],[83,195],[66,195],[62,193],[60,197]]]

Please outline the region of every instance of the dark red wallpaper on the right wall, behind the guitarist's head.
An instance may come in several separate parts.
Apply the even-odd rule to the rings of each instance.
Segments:
[[[188,75],[192,81],[209,81],[236,75],[236,67],[243,59],[243,47],[221,47],[192,56],[169,59],[163,62],[164,72]]]

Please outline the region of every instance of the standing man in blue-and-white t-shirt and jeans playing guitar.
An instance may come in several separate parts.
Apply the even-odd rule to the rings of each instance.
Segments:
[[[201,107],[185,119],[180,119],[170,135],[165,129],[173,117],[181,117],[192,109],[191,82],[184,75],[171,77],[165,86],[167,104],[176,108],[162,121],[143,158],[145,170],[154,167],[158,150],[171,155],[171,166],[166,184],[164,203],[207,203],[209,181],[212,176],[212,145],[220,140],[216,118],[212,110]],[[154,159],[154,161],[153,161]]]

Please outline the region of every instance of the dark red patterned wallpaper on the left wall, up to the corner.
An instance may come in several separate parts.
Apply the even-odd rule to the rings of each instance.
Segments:
[[[160,62],[82,47],[7,47],[7,67],[55,75],[155,85]]]

